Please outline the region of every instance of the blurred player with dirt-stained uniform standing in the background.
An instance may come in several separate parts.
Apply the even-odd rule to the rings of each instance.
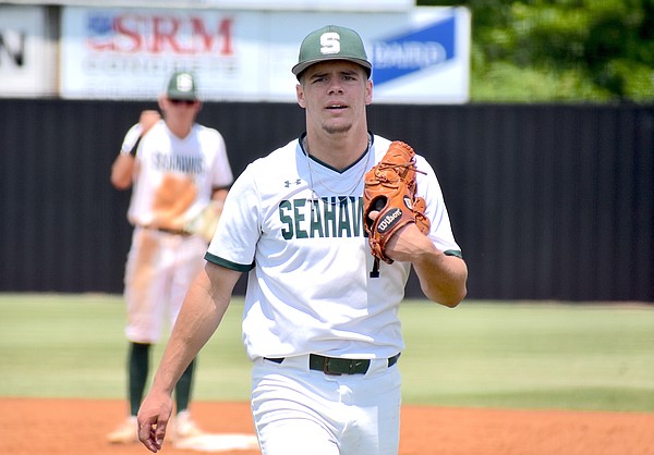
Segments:
[[[157,111],[144,111],[140,123],[128,132],[111,169],[116,188],[133,185],[128,219],[134,226],[124,288],[130,416],[109,433],[112,443],[138,442],[136,413],[146,386],[150,346],[167,322],[173,325],[205,262],[206,241],[183,226],[211,199],[222,204],[233,180],[220,133],[195,123],[202,103],[193,75],[173,74],[158,102],[164,120]],[[175,381],[172,435],[177,440],[202,433],[189,414],[194,367],[191,361]]]

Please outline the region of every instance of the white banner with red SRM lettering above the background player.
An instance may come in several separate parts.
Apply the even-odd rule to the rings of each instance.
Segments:
[[[178,69],[205,99],[259,99],[264,15],[255,12],[65,8],[61,95],[154,98]]]

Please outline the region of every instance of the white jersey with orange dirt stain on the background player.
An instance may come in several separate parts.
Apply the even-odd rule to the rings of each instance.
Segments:
[[[132,127],[123,151],[140,133]],[[128,219],[134,225],[180,229],[209,202],[214,187],[233,181],[225,139],[216,130],[194,124],[177,137],[159,121],[143,136],[136,152],[136,177]]]

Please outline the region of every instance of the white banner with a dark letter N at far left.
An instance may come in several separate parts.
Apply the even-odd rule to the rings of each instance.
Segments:
[[[57,53],[47,10],[0,5],[0,96],[57,94]]]

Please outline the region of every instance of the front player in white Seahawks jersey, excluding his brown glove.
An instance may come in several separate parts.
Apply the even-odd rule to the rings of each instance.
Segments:
[[[382,263],[379,278],[368,274],[363,176],[390,145],[368,132],[371,71],[354,30],[327,26],[303,40],[292,72],[306,132],[251,163],[230,189],[207,263],[138,411],[138,435],[152,452],[169,429],[174,384],[250,272],[243,340],[262,453],[397,454],[398,309],[410,268],[424,294],[447,307],[464,298],[468,269],[436,175],[417,157],[431,231],[403,226],[385,250],[395,262]]]

